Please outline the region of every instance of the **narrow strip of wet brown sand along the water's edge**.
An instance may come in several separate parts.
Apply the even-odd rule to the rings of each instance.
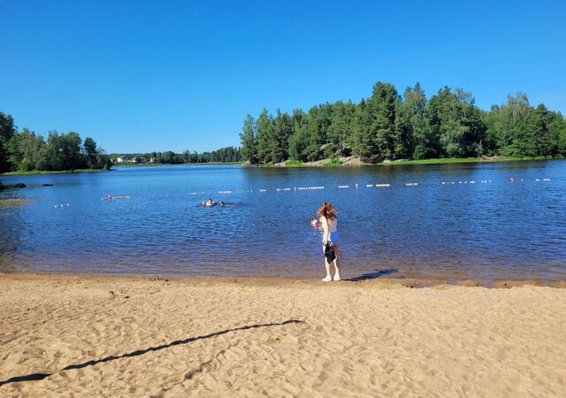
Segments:
[[[80,280],[166,280],[187,284],[217,285],[237,284],[241,286],[320,286],[320,285],[348,285],[363,287],[484,287],[488,289],[507,289],[511,287],[552,287],[566,288],[564,280],[545,279],[496,279],[479,281],[475,279],[442,279],[442,278],[387,278],[357,276],[341,279],[337,282],[325,283],[320,278],[309,277],[277,277],[277,276],[179,276],[164,274],[113,274],[113,273],[81,273],[81,272],[0,272],[0,280],[37,280],[37,279],[73,279]]]

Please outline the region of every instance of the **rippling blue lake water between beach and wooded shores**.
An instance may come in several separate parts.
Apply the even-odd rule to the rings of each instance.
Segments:
[[[310,217],[329,201],[346,278],[566,279],[566,161],[181,165],[0,180],[27,184],[1,197],[34,200],[0,208],[0,271],[321,277],[322,232]],[[313,187],[324,189],[303,189]],[[101,201],[109,193],[131,197]],[[209,197],[226,206],[199,205]]]

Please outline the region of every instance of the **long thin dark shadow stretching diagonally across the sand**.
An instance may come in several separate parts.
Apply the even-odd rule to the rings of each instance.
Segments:
[[[143,354],[147,354],[150,351],[159,351],[161,349],[170,348],[170,347],[173,347],[173,346],[179,346],[179,345],[182,345],[182,344],[188,344],[188,343],[193,342],[193,341],[211,339],[213,337],[218,337],[222,334],[237,332],[237,331],[241,331],[241,330],[249,330],[249,329],[256,329],[256,328],[260,328],[260,327],[270,327],[270,326],[303,324],[303,323],[304,323],[304,321],[301,321],[301,320],[288,319],[284,322],[278,322],[278,323],[246,325],[246,326],[241,326],[241,327],[234,327],[233,329],[226,329],[226,330],[223,330],[223,331],[220,331],[220,332],[203,334],[202,336],[196,336],[196,337],[189,337],[185,340],[172,341],[170,343],[162,344],[160,346],[149,347],[149,348],[145,348],[145,349],[138,349],[136,351],[128,352],[128,353],[122,354],[120,356],[105,356],[105,357],[100,358],[100,359],[93,359],[93,360],[88,361],[88,362],[83,362],[82,364],[70,364],[68,366],[65,366],[65,368],[63,368],[59,371],[71,371],[73,369],[82,369],[82,368],[86,368],[87,366],[102,364],[103,362],[115,361],[115,360],[120,359],[120,358],[127,358],[127,357],[132,357],[132,356],[142,356]],[[16,376],[16,377],[13,377],[11,379],[6,379],[4,381],[0,381],[0,387],[4,386],[4,384],[18,383],[20,381],[34,381],[34,380],[46,379],[46,378],[49,378],[50,376],[52,376],[53,374],[55,374],[57,372],[58,371],[53,371],[51,373],[31,373],[31,374],[27,374],[25,376]]]

